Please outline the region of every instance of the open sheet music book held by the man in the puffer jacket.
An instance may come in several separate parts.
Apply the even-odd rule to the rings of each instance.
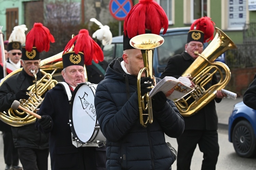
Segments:
[[[149,97],[152,97],[157,92],[162,91],[168,99],[176,102],[195,90],[190,86],[191,81],[187,77],[179,77],[176,79],[175,77],[166,76],[150,91]]]

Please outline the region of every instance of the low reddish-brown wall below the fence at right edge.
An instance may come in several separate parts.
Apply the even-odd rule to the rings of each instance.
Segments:
[[[253,81],[256,68],[233,68],[230,69],[230,72],[231,79],[225,89],[237,93],[238,97],[242,97],[245,90]]]

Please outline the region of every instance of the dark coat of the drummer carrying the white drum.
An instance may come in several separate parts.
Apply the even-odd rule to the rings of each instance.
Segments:
[[[57,84],[45,94],[44,101],[38,112],[39,115],[49,115],[53,120],[52,126],[48,129],[43,129],[38,120],[36,121],[36,127],[41,132],[50,132],[49,150],[52,170],[85,170],[85,164],[92,164],[90,161],[95,161],[95,159],[96,161],[98,159],[99,162],[104,163],[104,165],[98,166],[105,166],[105,154],[104,157],[100,157],[102,155],[97,155],[98,157],[96,158],[91,155],[91,160],[84,160],[86,157],[85,154],[90,156],[90,151],[92,149],[94,149],[94,151],[97,150],[97,147],[76,148],[72,144],[71,128],[68,124],[70,119],[70,109],[71,105],[69,104],[66,91],[62,86]],[[105,168],[103,167],[103,169]]]

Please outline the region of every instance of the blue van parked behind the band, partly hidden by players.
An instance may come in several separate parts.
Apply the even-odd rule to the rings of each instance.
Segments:
[[[163,30],[161,30],[160,35],[164,38],[165,42],[154,50],[153,74],[156,77],[160,77],[170,57],[180,54],[185,50],[189,29],[190,27],[169,28],[165,35],[162,34]],[[207,45],[208,43],[204,43],[204,47]],[[104,60],[108,63],[115,58],[122,57],[123,35],[113,37],[112,44],[103,47],[103,53]],[[222,58],[220,57],[216,61],[224,62],[224,56]]]

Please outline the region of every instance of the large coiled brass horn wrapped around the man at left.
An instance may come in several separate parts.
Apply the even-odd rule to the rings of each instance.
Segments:
[[[43,75],[40,80],[37,80],[36,74],[31,71],[35,77],[34,84],[27,89],[29,90],[29,98],[27,100],[22,99],[20,106],[32,112],[37,111],[38,107],[43,102],[45,93],[52,89],[57,83],[56,80],[53,80],[53,75],[57,70],[63,68],[62,53],[63,51],[40,62],[40,72]],[[22,69],[23,68],[17,69],[6,76],[0,83],[0,86],[6,79],[19,73]],[[50,74],[50,72],[52,73]],[[0,112],[0,120],[11,126],[24,126],[34,123],[36,118],[27,112],[10,108],[7,113],[5,111]]]

